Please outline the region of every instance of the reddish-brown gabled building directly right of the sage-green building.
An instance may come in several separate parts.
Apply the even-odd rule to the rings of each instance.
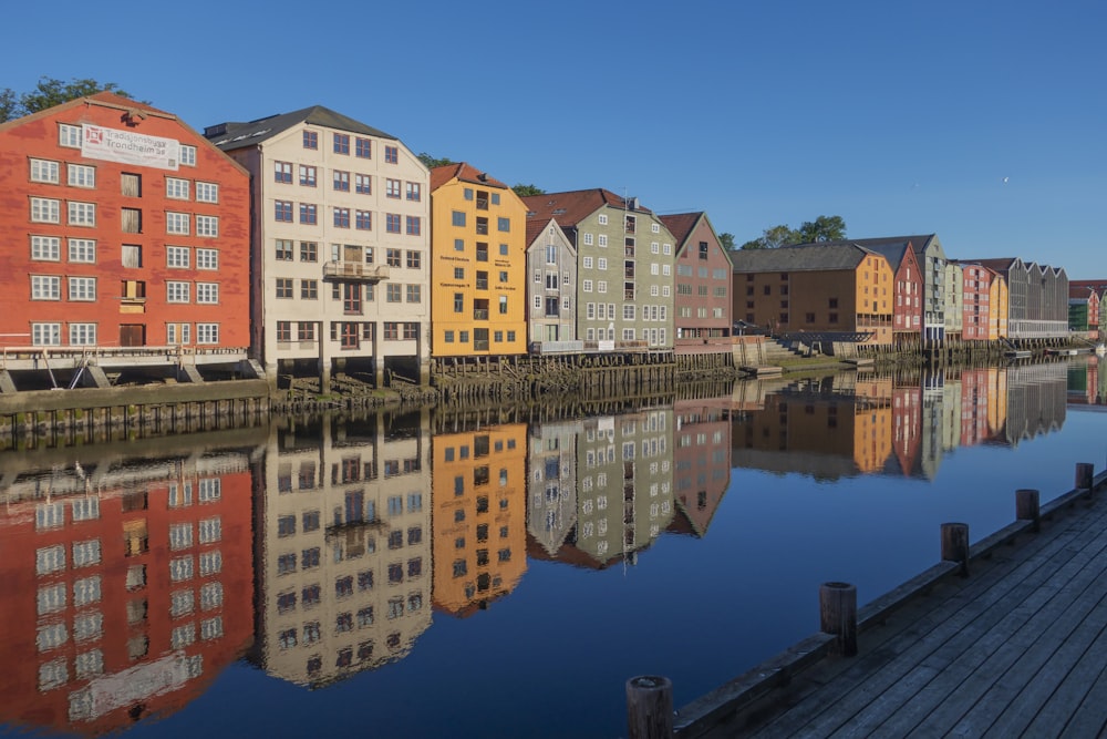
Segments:
[[[674,350],[704,351],[731,346],[731,258],[707,214],[659,216],[676,239]],[[705,349],[707,348],[707,349]]]

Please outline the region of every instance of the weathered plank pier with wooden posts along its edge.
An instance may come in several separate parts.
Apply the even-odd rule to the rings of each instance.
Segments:
[[[1041,509],[1017,491],[1015,523],[972,547],[945,524],[939,564],[855,612],[856,656],[824,609],[824,633],[680,708],[670,736],[1105,736],[1105,484],[1080,463]]]

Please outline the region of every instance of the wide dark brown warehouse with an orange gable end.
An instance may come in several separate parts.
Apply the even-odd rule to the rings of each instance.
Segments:
[[[855,244],[743,249],[734,263],[734,317],[774,333],[861,333],[891,343],[893,279],[888,260]]]

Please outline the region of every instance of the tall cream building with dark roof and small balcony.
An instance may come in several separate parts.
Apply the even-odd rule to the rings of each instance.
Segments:
[[[252,175],[251,343],[278,376],[426,380],[430,174],[390,134],[315,105],[205,130]]]

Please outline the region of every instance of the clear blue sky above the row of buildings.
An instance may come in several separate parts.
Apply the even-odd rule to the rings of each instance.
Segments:
[[[739,244],[840,215],[1107,277],[1104,0],[10,6],[0,88],[115,82],[197,130],[318,103]]]

